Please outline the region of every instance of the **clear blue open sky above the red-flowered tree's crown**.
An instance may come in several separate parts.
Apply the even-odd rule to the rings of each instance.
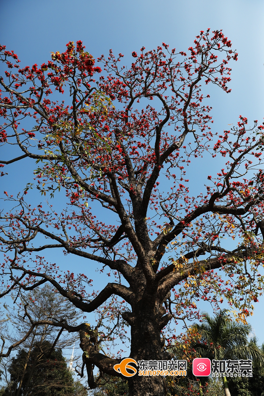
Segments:
[[[142,46],[152,49],[165,42],[186,51],[200,30],[223,29],[239,57],[231,65],[230,94],[208,87],[213,129],[222,131],[236,124],[239,114],[249,124],[264,117],[263,18],[263,0],[0,0],[0,43],[13,49],[23,66],[41,64],[51,52],[64,51],[68,41],[76,40],[82,40],[95,58],[112,48],[129,63],[131,52]],[[193,179],[199,183],[197,173]],[[19,177],[16,186],[23,180]],[[10,183],[10,188],[12,182],[10,177],[0,181]],[[70,260],[65,258],[66,263]],[[264,298],[251,319],[261,343],[263,303]]]

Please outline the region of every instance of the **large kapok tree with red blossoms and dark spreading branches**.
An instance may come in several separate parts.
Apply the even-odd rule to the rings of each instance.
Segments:
[[[188,55],[164,43],[153,51],[143,47],[132,53],[130,69],[119,67],[123,55],[110,51],[98,59],[104,72],[82,42],[66,47],[40,68],[19,68],[17,55],[1,46],[8,67],[0,80],[1,141],[21,150],[1,164],[18,162],[21,169],[24,158],[36,161],[34,183],[50,205],[44,210],[26,202],[34,183],[16,199],[5,192],[15,208],[1,215],[2,296],[50,282],[84,313],[98,312],[96,327],[70,326],[65,318],[45,322],[80,332],[94,388],[94,366],[102,375],[117,375],[113,366],[120,355],[111,357],[100,345],[123,337],[124,323],[131,327],[131,358],[167,360],[175,338],[169,326],[191,319],[200,298],[217,304],[226,296],[242,320],[252,311],[263,283],[258,148],[264,127],[255,122],[247,131],[240,117],[222,135],[209,128],[211,108],[203,104],[201,83],[230,92],[227,64],[237,60],[222,31],[201,31]],[[184,166],[202,152],[219,152],[223,165],[192,197]],[[58,197],[65,191],[67,209],[64,203],[60,211],[51,207],[55,190]],[[87,273],[59,272],[39,255],[47,249],[86,258]],[[93,262],[113,276],[99,293],[84,287]],[[216,268],[222,268],[222,279]],[[162,376],[128,381],[130,395],[165,395]]]

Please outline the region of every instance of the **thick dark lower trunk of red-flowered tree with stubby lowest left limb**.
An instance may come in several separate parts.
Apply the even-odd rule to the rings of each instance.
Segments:
[[[137,293],[135,292],[137,297],[131,301],[132,312],[122,313],[122,318],[131,326],[129,357],[138,363],[141,360],[170,360],[173,355],[164,351],[165,339],[161,337],[161,330],[172,317],[171,314],[166,314],[166,309],[162,306],[165,297],[158,295],[157,285],[146,291],[139,280],[137,287]],[[93,377],[93,365],[99,367],[103,373],[116,376],[114,366],[120,364],[120,359],[114,360],[101,354],[97,341],[97,331],[84,323],[80,329],[80,348],[84,352],[83,361],[86,365],[90,388],[97,386]],[[159,369],[155,371],[157,373]],[[146,369],[144,373],[146,374]],[[126,376],[120,371],[120,376],[128,382],[129,396],[166,396],[167,394],[165,377],[162,375],[139,375],[139,367],[137,367],[135,375]]]

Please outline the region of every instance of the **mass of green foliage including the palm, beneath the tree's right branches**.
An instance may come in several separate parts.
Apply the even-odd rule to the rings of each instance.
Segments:
[[[213,318],[203,314],[203,322],[190,328],[188,340],[176,343],[171,349],[176,359],[187,359],[187,376],[167,377],[168,395],[199,395],[199,383],[192,374],[194,358],[215,360],[252,359],[253,377],[229,377],[228,386],[232,396],[260,396],[264,391],[264,345],[260,349],[253,337],[248,341],[252,327],[232,322],[226,310],[218,311]],[[184,348],[184,349],[183,349]],[[223,396],[222,381],[201,377],[200,386],[207,396]],[[264,392],[263,392],[264,396]]]

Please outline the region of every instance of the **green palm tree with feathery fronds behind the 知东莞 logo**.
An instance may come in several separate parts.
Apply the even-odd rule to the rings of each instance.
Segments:
[[[195,324],[193,329],[199,340],[192,343],[197,356],[211,360],[252,359],[256,364],[264,364],[264,351],[260,350],[253,337],[248,341],[252,327],[249,324],[231,322],[226,310],[218,311],[213,318],[206,312],[203,323]],[[231,396],[226,377],[222,377],[225,396]]]

